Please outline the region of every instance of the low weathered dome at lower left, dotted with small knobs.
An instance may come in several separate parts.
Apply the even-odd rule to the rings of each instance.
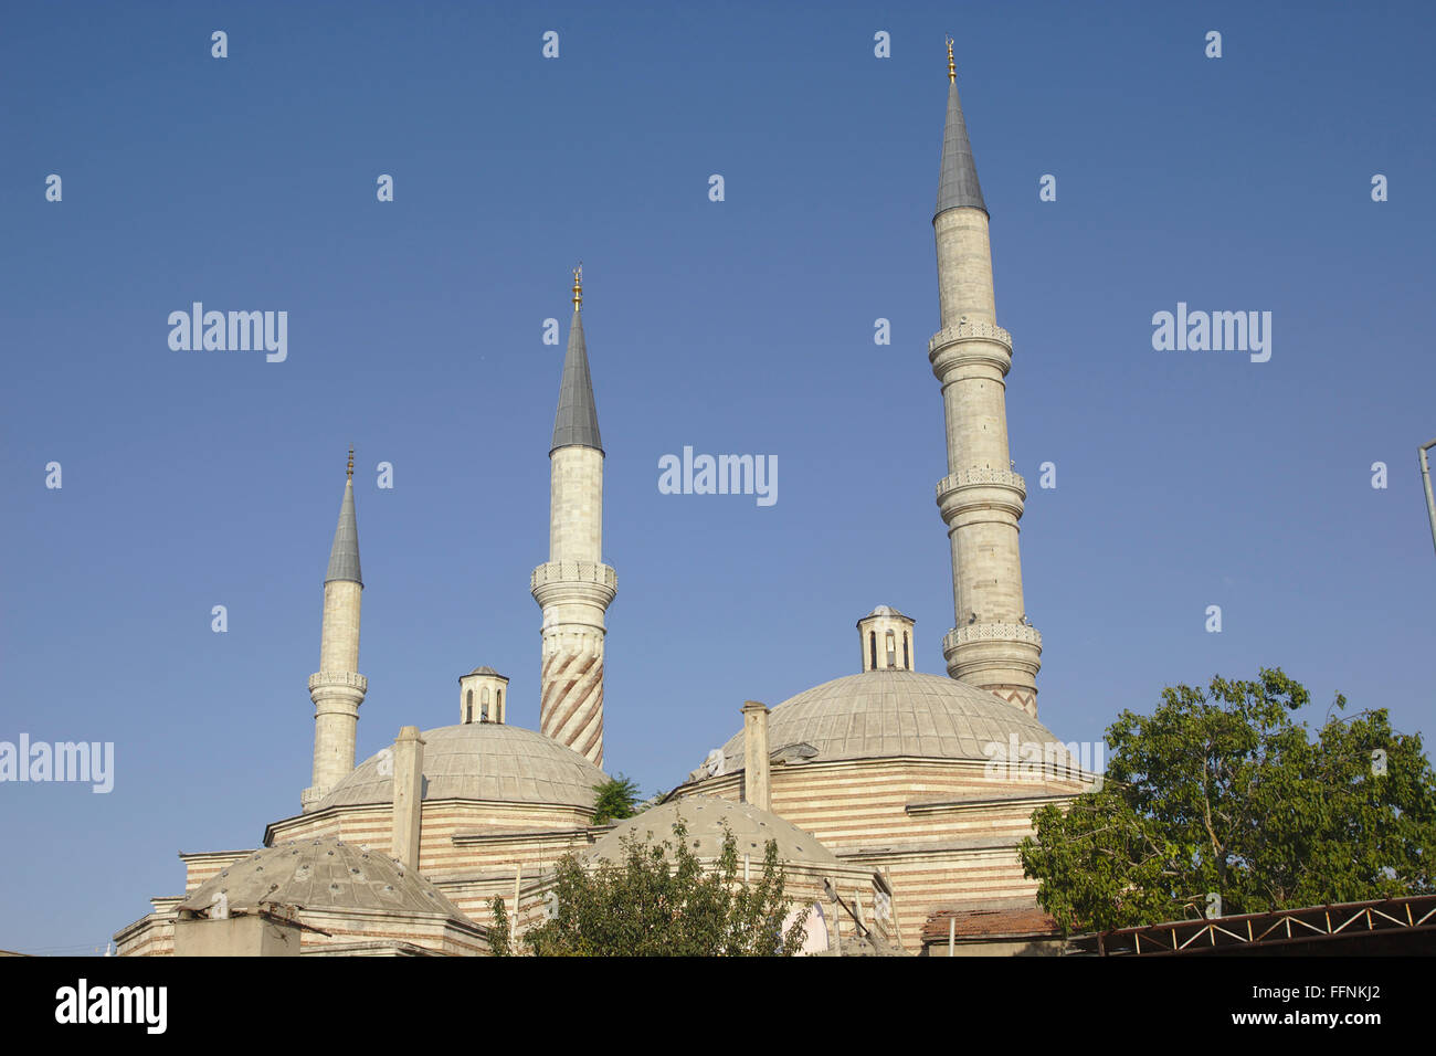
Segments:
[[[256,851],[207,879],[180,904],[205,912],[224,892],[230,911],[260,905],[303,909],[398,909],[464,918],[416,869],[335,836],[297,839]]]

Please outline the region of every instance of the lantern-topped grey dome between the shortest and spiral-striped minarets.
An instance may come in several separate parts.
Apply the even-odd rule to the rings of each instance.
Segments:
[[[541,733],[500,723],[465,723],[425,730],[424,799],[484,799],[592,807],[599,767]],[[325,796],[316,809],[393,802],[391,773],[379,773],[385,751],[370,756]]]

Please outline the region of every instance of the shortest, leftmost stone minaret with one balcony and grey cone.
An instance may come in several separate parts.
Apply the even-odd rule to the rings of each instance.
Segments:
[[[359,674],[359,526],[355,523],[355,450],[349,448],[345,501],[325,575],[325,624],[319,671],[309,677],[314,701],[314,779],[300,805],[313,810],[355,769],[355,727],[369,680]]]

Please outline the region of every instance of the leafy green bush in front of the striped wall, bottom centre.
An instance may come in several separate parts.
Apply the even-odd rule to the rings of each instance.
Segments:
[[[740,876],[738,842],[727,828],[722,849],[707,871],[694,855],[681,819],[673,823],[672,840],[652,843],[630,833],[622,845],[622,863],[602,862],[586,869],[573,855],[560,859],[553,882],[556,914],[523,934],[528,953],[781,957],[801,947],[808,909],[796,914],[784,928],[793,899],[784,897],[775,840],[768,840],[763,874],[752,882]],[[500,944],[505,951],[513,947],[507,922]],[[500,944],[494,944],[495,953]]]

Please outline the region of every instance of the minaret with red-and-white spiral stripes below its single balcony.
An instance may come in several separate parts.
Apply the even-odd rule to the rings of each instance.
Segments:
[[[538,730],[603,766],[603,613],[617,575],[603,563],[603,443],[583,345],[583,266],[549,448],[549,562],[531,589],[543,609]]]

